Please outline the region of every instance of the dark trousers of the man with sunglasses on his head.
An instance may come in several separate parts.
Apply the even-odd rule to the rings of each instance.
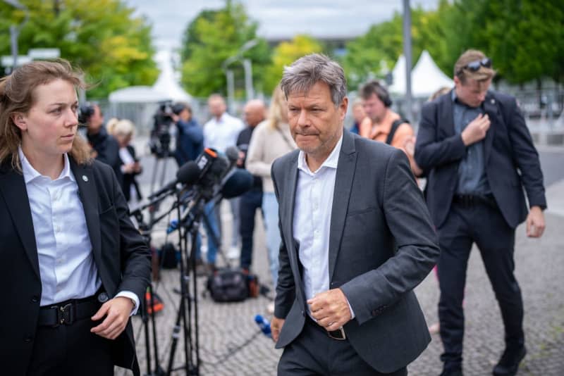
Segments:
[[[505,327],[506,346],[522,346],[523,302],[513,271],[515,262],[515,229],[503,219],[495,205],[477,202],[470,205],[453,203],[444,225],[439,230],[441,256],[438,263],[441,299],[439,320],[446,368],[460,368],[464,311],[462,300],[466,269],[472,244],[476,243],[486,273],[494,288]]]

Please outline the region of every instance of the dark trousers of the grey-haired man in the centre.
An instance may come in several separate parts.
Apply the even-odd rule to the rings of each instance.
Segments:
[[[407,368],[380,373],[362,360],[348,339],[339,341],[306,315],[302,333],[284,348],[278,362],[278,376],[355,375],[405,376]]]

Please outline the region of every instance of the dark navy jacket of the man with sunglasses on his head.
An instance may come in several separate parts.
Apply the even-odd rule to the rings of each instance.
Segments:
[[[546,208],[539,154],[513,96],[488,92],[484,111],[491,125],[484,139],[486,176],[503,218],[517,227],[527,218],[527,205]],[[415,161],[428,170],[427,204],[437,228],[441,227],[453,201],[458,165],[466,155],[460,134],[455,134],[450,93],[422,109]]]

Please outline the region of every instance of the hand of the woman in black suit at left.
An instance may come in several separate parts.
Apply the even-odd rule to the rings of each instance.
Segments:
[[[118,296],[106,301],[98,312],[92,316],[92,321],[102,320],[104,315],[106,318],[100,325],[93,327],[90,332],[107,339],[116,339],[125,329],[134,306],[133,301],[125,296]]]

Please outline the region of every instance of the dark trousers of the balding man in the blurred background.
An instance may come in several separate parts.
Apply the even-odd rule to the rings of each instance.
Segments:
[[[252,262],[252,234],[255,232],[257,209],[262,211],[262,189],[253,188],[243,194],[239,202],[240,266],[245,269],[249,269]]]

